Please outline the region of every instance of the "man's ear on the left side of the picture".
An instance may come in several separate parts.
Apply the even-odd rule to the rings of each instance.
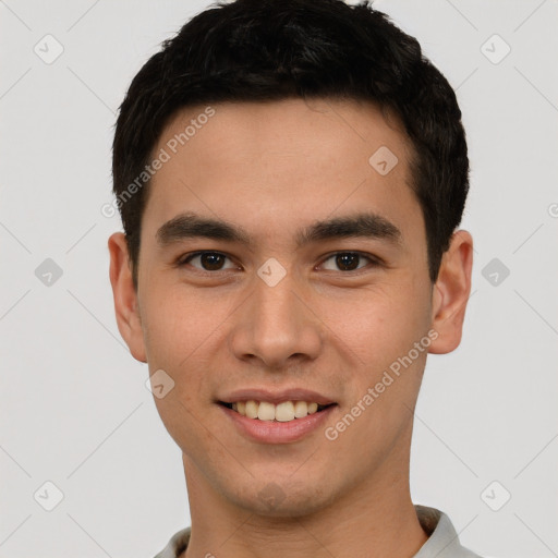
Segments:
[[[116,232],[109,238],[108,245],[110,252],[110,284],[114,298],[118,329],[134,359],[140,362],[147,362],[126,238],[122,232]]]

